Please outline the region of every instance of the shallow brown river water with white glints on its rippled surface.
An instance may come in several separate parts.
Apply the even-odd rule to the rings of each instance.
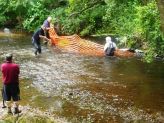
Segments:
[[[0,37],[0,61],[12,52],[20,64],[22,105],[76,123],[155,122],[164,112],[163,61],[87,57],[45,45],[35,57],[30,36],[5,38]]]

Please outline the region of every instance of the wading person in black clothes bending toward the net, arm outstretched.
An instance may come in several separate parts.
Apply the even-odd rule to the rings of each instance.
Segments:
[[[44,30],[45,27],[42,25],[41,28],[39,28],[32,36],[32,44],[35,47],[35,52],[34,54],[37,55],[38,53],[41,53],[41,43],[40,43],[40,39],[44,39],[47,41],[50,41],[50,39],[48,39],[45,35],[44,35]]]

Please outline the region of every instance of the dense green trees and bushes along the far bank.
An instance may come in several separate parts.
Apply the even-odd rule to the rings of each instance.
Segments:
[[[1,28],[33,32],[52,16],[61,34],[113,34],[126,39],[125,47],[144,50],[148,62],[164,57],[163,0],[0,0],[0,6]]]

